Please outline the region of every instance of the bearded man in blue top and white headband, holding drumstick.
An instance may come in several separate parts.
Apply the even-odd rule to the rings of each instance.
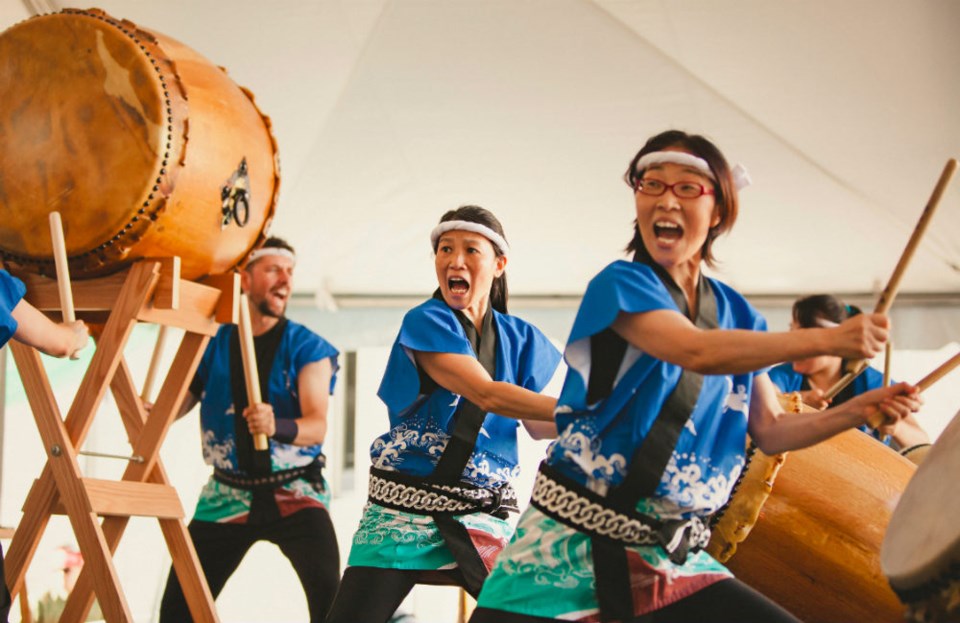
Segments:
[[[339,353],[285,317],[295,264],[293,247],[271,237],[250,254],[241,274],[264,402],[247,405],[238,330],[224,325],[203,355],[181,412],[200,402],[203,455],[214,467],[189,526],[211,593],[220,594],[254,543],[269,541],[293,565],[310,620],[318,623],[340,580],[330,489],[320,469]],[[268,450],[253,448],[257,434],[270,438]],[[267,476],[278,480],[264,483]],[[171,570],[160,621],[189,620]]]

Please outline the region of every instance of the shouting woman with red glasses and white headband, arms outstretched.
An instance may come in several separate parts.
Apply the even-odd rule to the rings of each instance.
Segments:
[[[796,621],[702,550],[744,466],[747,431],[783,452],[877,410],[900,419],[919,399],[901,384],[817,414],[782,413],[766,366],[872,356],[887,318],[767,333],[739,293],[704,277],[747,182],[707,139],[654,136],[625,179],[634,261],[587,287],[564,352],[559,436],[471,622]]]

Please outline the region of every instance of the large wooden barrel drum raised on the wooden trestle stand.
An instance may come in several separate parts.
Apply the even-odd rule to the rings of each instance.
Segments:
[[[279,187],[270,120],[187,46],[104,12],[66,10],[0,34],[0,257],[55,275],[60,212],[71,276],[144,257],[187,279],[262,242]]]

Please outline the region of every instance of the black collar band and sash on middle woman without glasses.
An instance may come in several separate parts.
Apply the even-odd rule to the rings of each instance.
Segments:
[[[436,297],[436,295],[434,295]],[[442,299],[441,299],[442,300]],[[470,340],[477,359],[490,378],[496,378],[497,365],[497,330],[493,323],[493,309],[487,307],[483,317],[483,333],[478,334],[473,323],[458,310],[453,310],[457,320]],[[460,397],[460,405],[454,413],[455,423],[450,441],[447,442],[443,454],[440,455],[433,473],[427,481],[438,485],[456,485],[463,476],[463,469],[470,461],[473,449],[477,443],[477,436],[487,414],[464,396]],[[467,592],[476,597],[480,594],[480,587],[487,578],[487,567],[477,552],[466,527],[449,514],[432,515],[440,535],[457,561],[460,573],[463,575]]]

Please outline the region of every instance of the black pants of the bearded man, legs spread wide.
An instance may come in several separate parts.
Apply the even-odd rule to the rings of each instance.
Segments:
[[[214,599],[253,544],[269,541],[280,548],[297,572],[307,595],[311,623],[322,623],[340,580],[337,537],[326,509],[307,508],[257,525],[191,521],[189,530]],[[264,578],[264,582],[269,581],[270,578]],[[160,622],[191,620],[180,582],[171,569],[160,602]]]

